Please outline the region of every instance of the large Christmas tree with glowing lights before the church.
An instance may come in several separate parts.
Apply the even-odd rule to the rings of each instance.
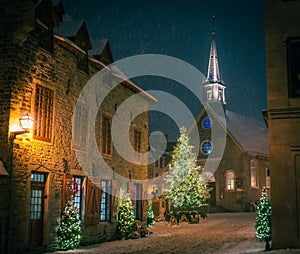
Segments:
[[[171,204],[171,210],[188,210],[207,203],[210,194],[201,176],[202,170],[197,165],[193,146],[189,145],[186,129],[181,128],[170,170],[165,176],[166,197]]]

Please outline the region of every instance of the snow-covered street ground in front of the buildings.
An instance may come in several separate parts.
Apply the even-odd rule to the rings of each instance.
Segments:
[[[255,238],[256,213],[211,213],[199,224],[170,226],[162,221],[149,230],[151,235],[119,240],[57,253],[98,254],[238,254],[263,253],[265,243]],[[300,253],[278,250],[270,254]]]

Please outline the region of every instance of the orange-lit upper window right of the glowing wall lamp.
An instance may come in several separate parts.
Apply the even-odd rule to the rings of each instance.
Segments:
[[[53,131],[54,92],[40,85],[36,86],[34,138],[51,142]]]

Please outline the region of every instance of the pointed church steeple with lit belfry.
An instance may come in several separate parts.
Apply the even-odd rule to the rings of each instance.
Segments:
[[[208,70],[206,81],[203,84],[203,94],[204,101],[219,101],[223,104],[224,108],[226,105],[225,102],[225,85],[224,82],[220,78],[219,72],[219,63],[218,63],[218,55],[217,55],[217,47],[216,47],[216,32],[214,28],[214,16],[213,16],[213,30],[212,30],[212,38],[210,44],[210,54],[209,54],[209,62],[208,62]]]

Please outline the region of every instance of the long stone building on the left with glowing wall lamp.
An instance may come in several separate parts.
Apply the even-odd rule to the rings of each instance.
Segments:
[[[131,193],[136,219],[146,218],[141,180],[148,168],[140,154],[148,150],[147,108],[156,100],[109,68],[109,42],[94,46],[86,23],[72,20],[61,1],[4,0],[0,7],[0,252],[54,249],[71,195],[83,222],[82,244],[115,239],[120,190]],[[96,88],[82,94],[91,80]],[[134,148],[130,162],[115,149],[112,129],[132,95],[146,113],[121,115],[130,121],[122,130]],[[24,131],[19,119],[27,114],[33,128]]]

